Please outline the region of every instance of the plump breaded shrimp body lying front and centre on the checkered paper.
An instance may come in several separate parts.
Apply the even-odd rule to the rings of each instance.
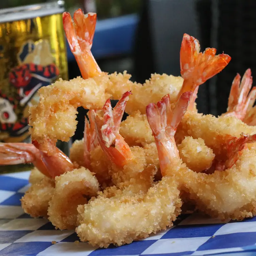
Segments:
[[[132,200],[124,194],[111,198],[98,196],[79,206],[80,225],[76,232],[81,241],[94,246],[108,247],[111,243],[120,246],[172,226],[180,207],[176,182],[164,177],[144,198]]]

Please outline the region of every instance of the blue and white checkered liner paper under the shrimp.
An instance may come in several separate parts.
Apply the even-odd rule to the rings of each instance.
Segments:
[[[172,228],[120,247],[98,249],[78,241],[72,230],[56,230],[33,219],[20,206],[29,172],[0,175],[0,255],[256,255],[256,217],[221,222],[202,215],[181,215]],[[56,241],[52,244],[52,241]]]

